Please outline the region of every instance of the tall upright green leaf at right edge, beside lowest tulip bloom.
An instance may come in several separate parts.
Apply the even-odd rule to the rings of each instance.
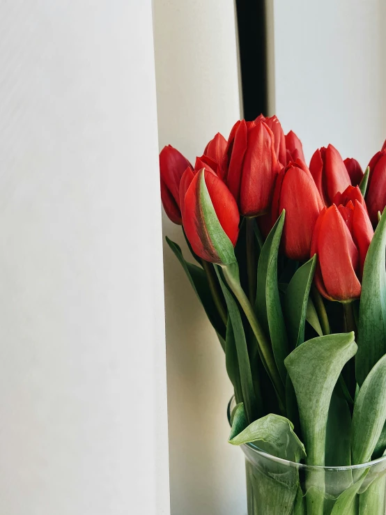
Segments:
[[[357,339],[358,352],[355,358],[359,385],[362,385],[376,362],[386,354],[385,211],[364,261]]]

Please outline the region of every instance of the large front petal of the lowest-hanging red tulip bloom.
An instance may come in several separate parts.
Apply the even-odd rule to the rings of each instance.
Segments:
[[[341,301],[359,298],[359,254],[337,206],[325,211],[318,231],[318,259],[328,295]]]

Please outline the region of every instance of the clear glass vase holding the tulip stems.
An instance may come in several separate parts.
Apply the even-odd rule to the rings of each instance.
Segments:
[[[228,417],[235,406],[229,403]],[[350,467],[293,463],[241,445],[248,515],[385,515],[386,456]]]

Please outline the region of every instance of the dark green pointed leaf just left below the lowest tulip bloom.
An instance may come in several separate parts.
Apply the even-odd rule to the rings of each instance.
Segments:
[[[307,304],[315,266],[316,255],[296,270],[286,289],[284,306],[289,340],[293,348],[304,341]]]

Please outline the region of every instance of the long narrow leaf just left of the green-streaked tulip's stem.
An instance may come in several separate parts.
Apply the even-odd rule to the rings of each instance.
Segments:
[[[244,327],[242,325],[242,319],[238,305],[236,304],[236,300],[234,300],[233,295],[224,284],[218,267],[216,267],[216,273],[217,277],[219,278],[219,284],[221,286],[222,293],[224,293],[226,305],[228,307],[228,312],[233,327],[233,336],[235,339],[238,367],[240,371],[242,400],[244,401],[247,420],[252,422],[252,420],[256,420],[258,415],[261,413],[261,408],[258,406],[258,399],[256,399],[254,392],[254,384],[252,381],[252,371],[249,362]]]

